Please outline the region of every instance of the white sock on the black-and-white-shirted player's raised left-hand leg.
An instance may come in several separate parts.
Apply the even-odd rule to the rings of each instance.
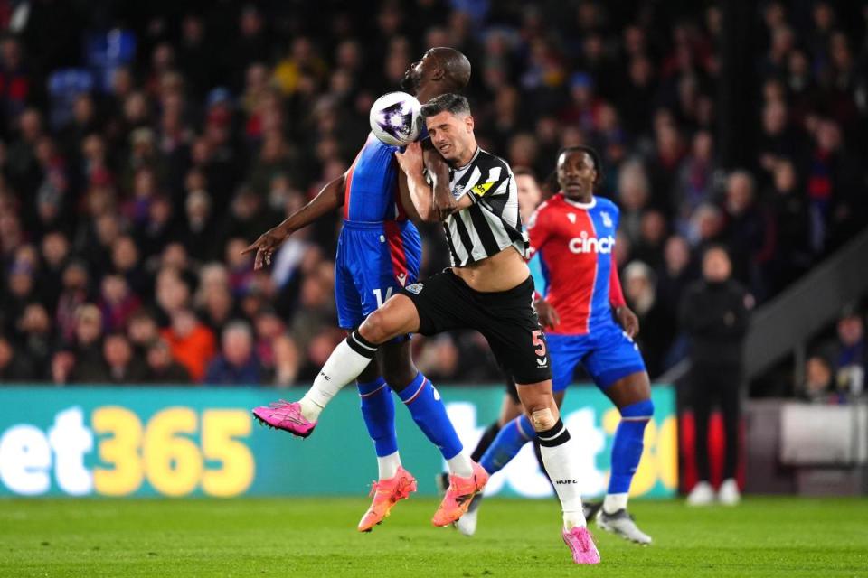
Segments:
[[[354,336],[355,332],[338,343],[332,354],[325,360],[325,365],[320,370],[319,375],[314,379],[314,385],[298,401],[301,405],[301,415],[304,415],[306,419],[316,422],[319,419],[319,414],[332,400],[332,397],[346,384],[359,377],[364,368],[371,363],[376,349],[373,348],[368,351],[371,348],[358,341],[350,346],[347,341],[354,340]],[[365,353],[370,352],[371,355],[363,355],[359,353],[359,350],[363,350]]]

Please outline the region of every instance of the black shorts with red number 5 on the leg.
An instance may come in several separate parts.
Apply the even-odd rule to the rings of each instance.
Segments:
[[[533,308],[533,278],[508,291],[483,293],[447,269],[404,287],[419,312],[419,332],[475,329],[488,340],[497,362],[519,385],[552,378],[549,351]]]

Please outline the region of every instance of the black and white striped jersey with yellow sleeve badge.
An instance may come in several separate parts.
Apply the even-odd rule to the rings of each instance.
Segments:
[[[452,266],[476,263],[510,246],[527,258],[530,244],[509,164],[477,148],[469,163],[449,170],[449,187],[456,200],[469,195],[473,201],[443,222]]]

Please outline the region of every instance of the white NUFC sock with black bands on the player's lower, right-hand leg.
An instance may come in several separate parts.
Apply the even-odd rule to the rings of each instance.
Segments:
[[[540,444],[542,463],[545,465],[545,471],[549,474],[549,478],[554,483],[558,499],[561,500],[563,527],[570,530],[573,527],[587,526],[588,523],[581,508],[579,463],[575,457],[577,452],[570,439],[570,433],[559,419],[551,430],[537,432],[537,435],[542,443],[547,443],[546,445]],[[552,443],[557,445],[551,445]]]

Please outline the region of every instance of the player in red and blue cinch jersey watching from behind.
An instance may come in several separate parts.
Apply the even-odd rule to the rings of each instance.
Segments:
[[[633,341],[639,323],[627,308],[612,251],[618,207],[593,194],[602,174],[593,149],[561,151],[557,174],[561,192],[540,205],[528,227],[531,253],[540,259],[545,277],[545,295],[537,299],[536,309],[548,328],[554,395],[560,406],[581,364],[618,407],[621,422],[612,446],[609,489],[597,523],[637,544],[650,544],[651,537],[627,513],[630,482],[654,404],[645,362]],[[500,430],[479,462],[489,474],[500,471],[535,437],[532,424],[520,415]]]

